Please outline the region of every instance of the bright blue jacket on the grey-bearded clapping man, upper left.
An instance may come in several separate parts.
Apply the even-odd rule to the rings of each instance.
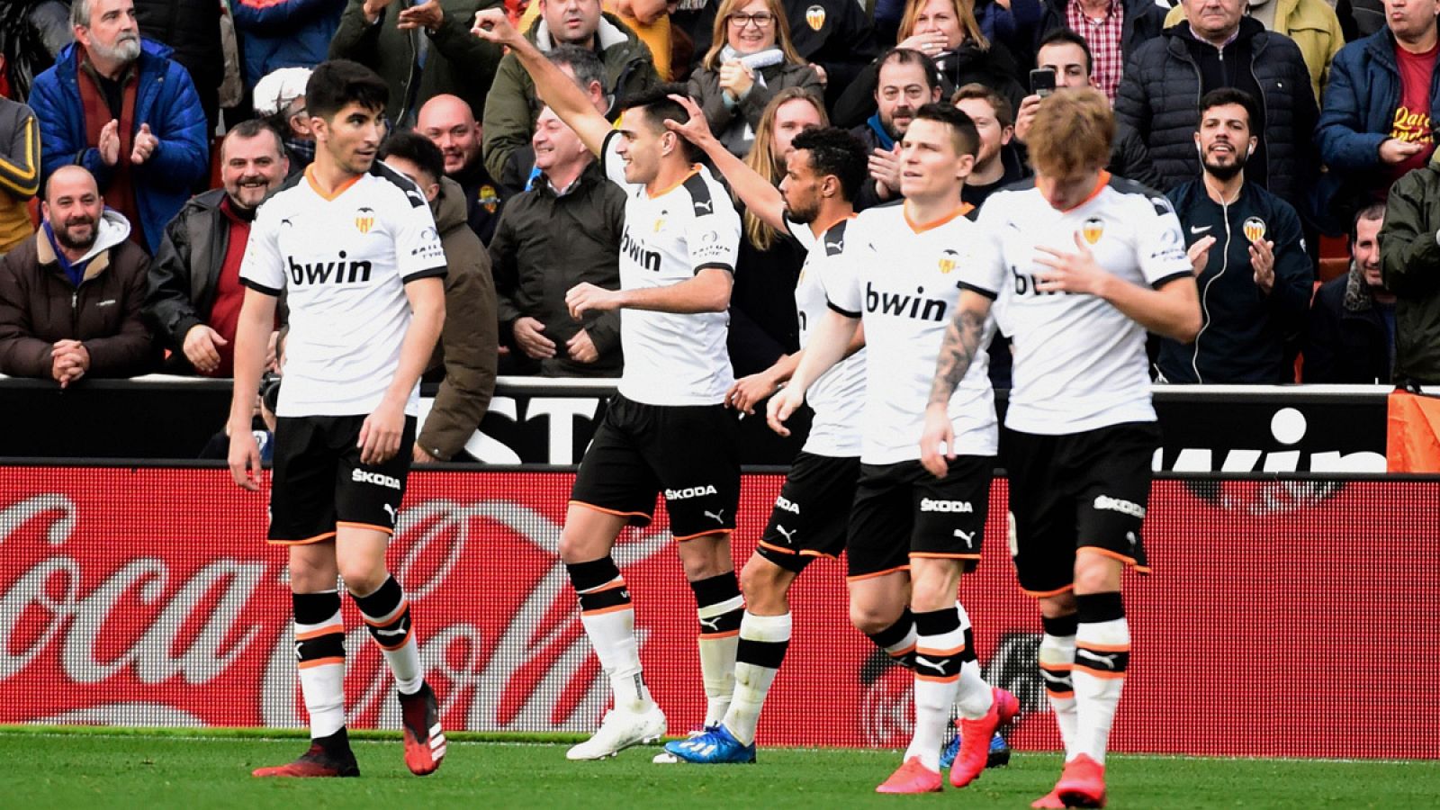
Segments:
[[[135,205],[150,254],[160,248],[170,222],[190,199],[190,190],[210,170],[210,148],[204,137],[204,111],[190,75],[170,59],[170,49],[148,39],[141,40],[140,85],[135,92],[135,131],[150,124],[160,140],[154,154],[131,169]],[[84,166],[95,176],[104,195],[111,167],[85,137],[85,111],[78,79],[79,56],[66,45],[55,65],[35,78],[30,107],[40,123],[40,183],[62,166]],[[134,133],[131,133],[134,134]],[[121,156],[121,160],[128,156]]]

